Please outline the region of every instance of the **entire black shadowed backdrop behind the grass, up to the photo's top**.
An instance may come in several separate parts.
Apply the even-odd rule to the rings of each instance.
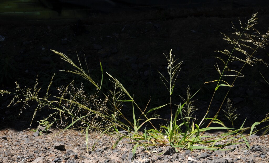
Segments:
[[[13,91],[15,81],[21,86],[32,87],[39,74],[39,85],[47,88],[51,76],[56,73],[51,89],[66,85],[73,79],[77,85],[84,84],[91,93],[93,87],[76,75],[59,70],[69,70],[67,63],[49,49],[60,51],[77,63],[76,53],[83,60],[84,54],[89,70],[100,81],[99,60],[104,71],[119,79],[125,88],[134,94],[141,108],[164,105],[169,102],[165,89],[156,70],[166,72],[164,54],[172,54],[183,61],[174,90],[173,103],[180,103],[189,85],[191,92],[201,91],[194,97],[199,110],[194,113],[198,119],[204,115],[214,91],[214,84],[206,81],[218,79],[214,65],[220,55],[215,50],[230,49],[224,33],[232,36],[231,22],[239,27],[242,22],[258,12],[261,32],[266,32],[268,23],[267,1],[1,1],[0,41],[1,89]],[[75,4],[74,4],[75,3]],[[268,51],[257,52],[268,63]],[[84,64],[85,65],[85,64]],[[234,63],[233,68],[242,66]],[[86,66],[85,66],[86,67]],[[238,108],[240,114],[236,125],[247,119],[247,125],[261,120],[268,110],[269,85],[266,79],[268,67],[262,64],[247,66],[245,78],[239,79],[228,98]],[[104,81],[109,77],[105,76]],[[268,80],[267,80],[268,81]],[[98,82],[99,83],[99,82]],[[104,89],[111,84],[104,82]],[[213,101],[210,115],[213,116],[224,98],[226,88],[222,88]],[[42,94],[42,92],[41,92]],[[36,105],[23,110],[21,106],[7,107],[11,96],[0,97],[1,128],[27,128],[30,125]],[[124,106],[130,112],[130,106]],[[174,107],[176,109],[176,107]],[[41,120],[47,111],[37,113],[35,120]],[[169,115],[169,108],[163,108],[157,115]],[[219,118],[230,126],[223,112]],[[38,125],[38,123],[33,124]]]

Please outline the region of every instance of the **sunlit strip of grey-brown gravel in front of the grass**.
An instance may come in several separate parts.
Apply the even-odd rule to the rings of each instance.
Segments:
[[[269,162],[269,136],[253,136],[250,149],[245,144],[232,146],[232,150],[181,150],[176,152],[169,146],[152,146],[148,151],[138,146],[135,155],[132,143],[122,139],[115,149],[112,144],[116,137],[89,133],[87,152],[85,136],[76,130],[60,131],[52,129],[48,135],[35,136],[36,132],[27,129],[0,131],[0,162],[41,163],[41,162]]]

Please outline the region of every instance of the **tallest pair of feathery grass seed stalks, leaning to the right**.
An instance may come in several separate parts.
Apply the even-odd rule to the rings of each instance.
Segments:
[[[218,51],[222,54],[225,54],[225,56],[228,56],[228,59],[227,61],[224,61],[222,58],[220,57],[217,57],[219,58],[224,64],[224,68],[223,70],[221,71],[220,68],[217,66],[216,69],[218,71],[218,73],[220,74],[220,78],[218,80],[214,80],[214,81],[211,81],[211,82],[217,82],[217,85],[216,85],[216,88],[214,90],[214,93],[212,95],[212,98],[211,98],[211,101],[210,101],[210,104],[208,106],[208,109],[207,109],[207,112],[206,112],[206,115],[204,116],[204,118],[201,120],[199,126],[201,126],[201,124],[204,123],[204,120],[206,118],[206,116],[208,115],[208,112],[210,110],[210,106],[211,106],[211,103],[214,99],[214,95],[216,93],[216,91],[218,90],[218,88],[220,86],[228,86],[229,87],[229,90],[227,91],[218,111],[216,112],[215,116],[214,117],[217,117],[218,114],[220,113],[220,110],[231,90],[231,88],[233,87],[236,79],[238,77],[244,77],[244,75],[241,73],[243,68],[248,64],[250,66],[253,66],[254,63],[257,63],[257,62],[262,62],[264,63],[263,60],[259,59],[259,58],[256,58],[254,56],[255,52],[257,52],[257,50],[259,48],[265,48],[265,46],[268,44],[267,43],[267,39],[268,39],[268,36],[269,36],[269,31],[267,31],[266,33],[264,34],[261,34],[258,30],[254,29],[254,25],[256,25],[258,22],[257,22],[258,18],[257,18],[257,13],[252,15],[252,17],[248,20],[248,22],[246,23],[245,27],[243,26],[243,24],[241,23],[240,19],[239,19],[239,23],[241,25],[241,29],[243,29],[241,32],[236,29],[236,27],[233,25],[233,29],[235,29],[235,32],[234,34],[236,36],[238,36],[238,39],[235,40],[235,39],[231,39],[229,38],[228,36],[226,36],[224,34],[224,40],[228,41],[229,44],[232,44],[234,45],[233,48],[232,48],[232,51],[230,52],[229,50],[224,50],[224,51]],[[251,34],[250,34],[251,33]],[[239,57],[239,54],[235,54],[235,52],[239,52],[239,54],[243,54],[243,57],[240,58]],[[229,69],[228,68],[228,63],[230,62],[233,62],[233,61],[240,61],[240,62],[243,62],[243,66],[242,68],[239,70],[239,71],[236,71],[236,70],[232,70],[232,69]],[[264,63],[266,64],[266,63]],[[267,64],[266,64],[267,65]],[[234,72],[234,74],[230,75],[230,74],[225,74],[226,72]],[[222,80],[222,78],[224,76],[230,76],[230,77],[234,77],[233,81],[231,82],[231,84],[228,84],[228,82]],[[220,84],[221,82],[223,82],[224,84]],[[205,82],[205,83],[209,83],[209,82]],[[210,121],[210,123],[208,123],[207,127],[209,127],[211,125],[211,123],[213,122],[214,118]],[[204,132],[203,132],[204,133]]]

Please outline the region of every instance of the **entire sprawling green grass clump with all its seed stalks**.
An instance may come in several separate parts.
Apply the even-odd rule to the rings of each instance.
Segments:
[[[235,28],[235,36],[237,39],[230,39],[228,36],[224,35],[224,40],[233,45],[233,48],[231,50],[225,49],[224,51],[219,51],[221,54],[225,54],[224,56],[227,58],[217,57],[224,63],[223,68],[220,68],[218,64],[215,66],[217,72],[220,74],[220,78],[206,82],[217,82],[217,85],[207,112],[200,121],[192,117],[193,112],[197,110],[196,106],[193,105],[195,100],[192,100],[192,98],[199,90],[194,93],[194,95],[191,95],[190,88],[187,88],[187,98],[182,98],[184,103],[182,102],[178,106],[172,103],[173,90],[176,86],[180,65],[182,64],[182,62],[179,62],[178,59],[175,59],[175,56],[172,55],[172,50],[170,50],[169,55],[165,55],[168,61],[168,78],[158,71],[161,81],[169,92],[170,101],[169,103],[164,103],[158,107],[147,108],[148,104],[145,108],[139,107],[135,101],[135,96],[129,93],[128,89],[126,89],[118,79],[107,72],[106,75],[110,78],[108,82],[112,82],[113,89],[109,89],[108,92],[103,92],[101,88],[104,73],[101,63],[100,74],[102,77],[99,82],[100,84],[98,84],[98,82],[91,78],[90,72],[85,71],[82,68],[79,58],[78,66],[73,63],[68,56],[54,50],[52,51],[55,54],[58,54],[64,61],[74,67],[73,70],[68,70],[67,72],[77,74],[89,81],[96,88],[96,92],[88,95],[83,91],[82,85],[80,88],[77,88],[72,81],[69,85],[58,88],[59,96],[51,96],[48,93],[49,87],[52,84],[51,80],[46,94],[43,97],[40,97],[38,92],[41,88],[37,88],[38,81],[36,81],[33,89],[20,88],[19,84],[16,83],[17,87],[11,103],[15,103],[16,105],[17,103],[22,102],[23,108],[26,108],[26,106],[29,106],[30,101],[37,102],[34,116],[37,111],[41,109],[54,110],[55,112],[48,118],[54,118],[55,120],[59,117],[58,125],[62,126],[64,129],[79,128],[84,130],[86,132],[86,144],[89,130],[97,130],[102,133],[110,134],[111,136],[115,136],[116,134],[118,140],[112,145],[112,148],[115,148],[123,138],[129,138],[131,142],[134,143],[133,154],[136,152],[138,145],[141,145],[146,149],[149,146],[169,145],[174,147],[176,151],[182,149],[222,150],[222,148],[226,146],[239,144],[240,142],[238,142],[238,140],[242,139],[243,143],[246,143],[249,147],[246,136],[243,136],[242,133],[250,130],[250,133],[248,134],[248,136],[250,136],[251,134],[258,132],[259,130],[254,129],[258,124],[267,122],[269,120],[268,115],[263,120],[254,123],[250,127],[244,128],[244,122],[239,129],[234,129],[233,127],[226,127],[225,124],[218,119],[218,114],[221,111],[223,103],[226,101],[230,89],[235,84],[236,79],[244,76],[242,70],[245,65],[253,65],[257,62],[264,63],[263,60],[256,58],[254,54],[258,48],[264,48],[267,45],[269,32],[267,31],[265,34],[261,34],[254,29],[254,25],[257,24],[256,17],[257,15],[254,14],[246,25],[243,25],[239,20],[242,29],[241,31],[233,26]],[[242,68],[240,70],[230,69],[229,63],[233,61],[243,62]],[[208,113],[210,111],[210,106],[213,103],[214,95],[223,86],[229,88],[228,92],[215,115],[212,118],[209,118]],[[0,93],[10,94],[12,92],[1,90]],[[132,106],[132,121],[130,121],[129,118],[125,116],[125,113],[122,112],[122,103],[128,103]],[[148,100],[148,103],[150,103],[150,100]],[[170,106],[171,119],[167,120],[168,124],[161,126],[159,130],[157,129],[158,127],[154,126],[153,122],[158,122],[162,119],[157,117],[148,118],[148,114],[167,105]],[[228,104],[227,106],[228,110],[225,110],[225,113],[232,121],[233,126],[233,121],[239,115],[234,114],[235,109],[232,108],[231,105]],[[176,107],[174,113],[172,112],[172,107]],[[138,110],[138,112],[135,110]],[[219,126],[210,127],[212,123]],[[268,125],[262,129],[268,129]],[[216,137],[203,135],[205,131],[211,130],[227,130],[227,132]],[[239,138],[235,138],[236,136],[239,136]]]

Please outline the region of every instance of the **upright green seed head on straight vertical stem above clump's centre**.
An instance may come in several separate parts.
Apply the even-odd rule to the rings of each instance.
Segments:
[[[173,93],[173,89],[175,86],[175,82],[176,82],[176,78],[178,77],[178,73],[180,71],[180,65],[182,64],[182,62],[177,63],[177,60],[175,60],[175,55],[172,56],[172,49],[169,52],[169,56],[165,55],[166,60],[168,61],[168,67],[167,67],[167,72],[169,75],[169,79],[166,79],[164,77],[164,75],[161,74],[160,71],[158,71],[158,73],[161,75],[160,79],[162,80],[162,82],[164,83],[165,87],[167,88],[167,90],[169,91],[169,95],[170,95],[170,110],[171,110],[171,119],[172,119],[172,93]]]

